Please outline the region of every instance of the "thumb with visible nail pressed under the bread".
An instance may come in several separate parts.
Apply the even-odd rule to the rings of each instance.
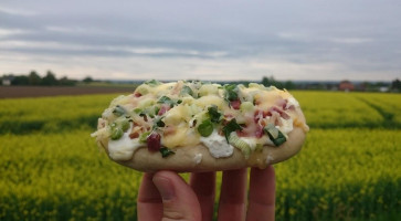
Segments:
[[[162,220],[201,220],[197,194],[176,172],[159,171],[152,179],[162,199]]]

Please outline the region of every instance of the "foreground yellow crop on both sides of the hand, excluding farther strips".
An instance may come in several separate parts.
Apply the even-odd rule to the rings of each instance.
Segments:
[[[112,162],[89,133],[1,135],[0,220],[135,220],[141,175]],[[397,213],[399,134],[313,129],[297,156],[275,166],[277,220]]]

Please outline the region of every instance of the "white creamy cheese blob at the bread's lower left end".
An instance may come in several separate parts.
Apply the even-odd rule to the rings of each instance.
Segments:
[[[128,160],[133,157],[135,150],[139,147],[145,146],[145,144],[139,143],[139,138],[129,138],[130,134],[128,131],[124,133],[123,137],[117,140],[109,139],[108,141],[108,155],[114,160]]]

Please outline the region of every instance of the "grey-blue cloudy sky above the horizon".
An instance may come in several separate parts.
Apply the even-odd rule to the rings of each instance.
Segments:
[[[401,1],[1,0],[0,75],[401,78]]]

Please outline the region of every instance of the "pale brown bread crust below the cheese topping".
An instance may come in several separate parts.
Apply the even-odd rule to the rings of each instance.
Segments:
[[[191,147],[179,147],[172,149],[176,154],[162,158],[160,152],[151,152],[146,147],[137,149],[129,160],[114,160],[120,165],[144,172],[158,170],[173,170],[178,172],[204,172],[232,170],[246,167],[266,168],[267,165],[284,161],[296,155],[305,140],[306,131],[302,127],[294,127],[288,134],[286,143],[278,147],[264,146],[261,151],[254,151],[249,159],[238,148],[230,157],[214,158],[209,149],[200,144]],[[107,150],[107,140],[102,140]],[[201,160],[199,160],[201,155]],[[198,157],[197,157],[198,156]]]

